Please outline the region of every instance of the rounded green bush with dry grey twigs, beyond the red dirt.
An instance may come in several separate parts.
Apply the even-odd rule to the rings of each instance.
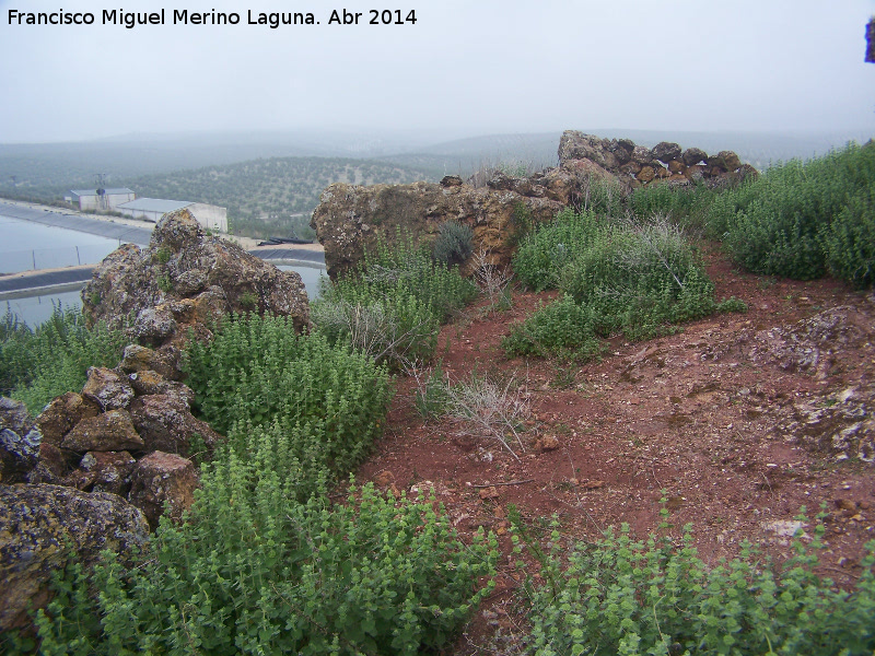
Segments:
[[[648,339],[716,309],[740,309],[718,306],[698,253],[662,219],[607,223],[563,212],[520,248],[514,268],[529,286],[565,295],[512,330],[511,355],[586,359],[598,352],[597,337]]]

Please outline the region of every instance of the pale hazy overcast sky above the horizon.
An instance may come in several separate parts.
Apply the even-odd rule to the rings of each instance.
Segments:
[[[0,0],[0,143],[300,128],[865,130],[875,0]],[[165,9],[164,25],[102,24]],[[247,24],[247,10],[319,25]],[[361,12],[329,25],[331,10]],[[370,25],[370,9],[416,24]],[[240,24],[174,25],[174,10]],[[91,12],[93,25],[10,25]]]

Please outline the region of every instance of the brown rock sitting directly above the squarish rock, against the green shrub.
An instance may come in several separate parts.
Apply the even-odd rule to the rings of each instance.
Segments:
[[[212,450],[222,440],[210,425],[191,414],[184,396],[155,394],[137,397],[130,407],[144,450],[191,454],[192,440]]]

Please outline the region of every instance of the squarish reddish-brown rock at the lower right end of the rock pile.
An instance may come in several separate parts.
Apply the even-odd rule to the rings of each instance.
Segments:
[[[165,507],[168,516],[180,519],[195,501],[198,475],[195,464],[175,454],[153,452],[137,461],[128,499],[140,508],[152,528]]]

